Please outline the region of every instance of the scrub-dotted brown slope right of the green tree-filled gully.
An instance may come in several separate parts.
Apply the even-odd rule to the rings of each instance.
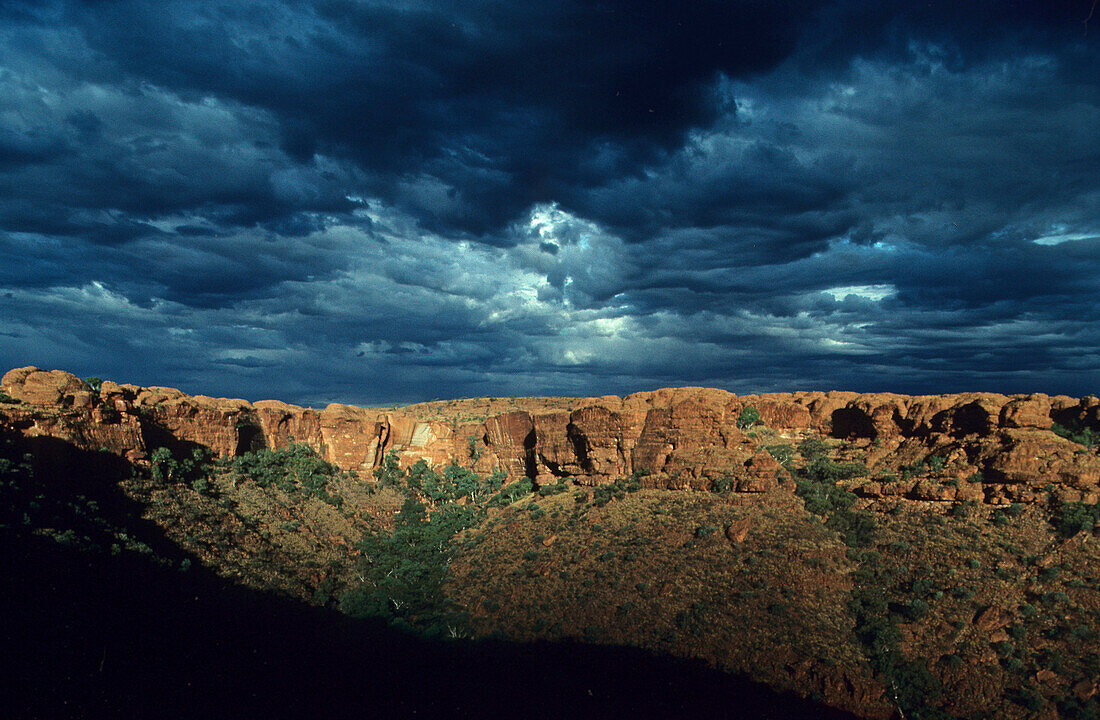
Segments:
[[[1078,533],[1096,506],[872,505],[844,487],[867,468],[829,450],[779,451],[805,511],[783,494],[527,498],[468,531],[444,590],[475,634],[638,644],[820,694],[877,684],[910,718],[1094,717],[1100,549]]]

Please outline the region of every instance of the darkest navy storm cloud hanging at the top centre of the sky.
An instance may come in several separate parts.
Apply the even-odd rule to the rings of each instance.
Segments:
[[[713,122],[716,74],[784,59],[807,5],[112,2],[67,14],[101,71],[263,108],[289,156],[345,154],[377,174],[373,193],[483,234]],[[600,143],[606,164],[593,166]],[[454,202],[435,207],[391,174]]]

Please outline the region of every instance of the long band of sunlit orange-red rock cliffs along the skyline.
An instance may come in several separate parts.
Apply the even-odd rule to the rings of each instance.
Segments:
[[[410,410],[346,405],[315,410],[110,381],[96,391],[74,375],[35,367],[7,373],[0,391],[18,401],[0,406],[0,412],[25,434],[139,462],[160,445],[232,457],[304,442],[360,474],[393,453],[405,466],[453,462],[538,483],[571,476],[598,485],[638,474],[654,487],[707,488],[722,481],[735,491],[762,492],[790,486],[773,454],[791,454],[801,440],[823,437],[840,459],[867,464],[868,476],[856,489],[869,498],[994,503],[1034,501],[1049,492],[1065,500],[1100,498],[1097,451],[1052,432],[1054,423],[1100,430],[1094,397],[839,391],[737,397],[678,388],[583,399],[571,410],[447,422]],[[746,408],[759,412],[759,427],[738,427]]]

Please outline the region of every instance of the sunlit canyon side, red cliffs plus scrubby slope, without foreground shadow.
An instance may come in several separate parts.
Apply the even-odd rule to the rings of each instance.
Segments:
[[[675,388],[312,409],[23,367],[0,379],[0,429],[77,489],[88,463],[118,463],[151,538],[186,555],[172,562],[315,606],[381,592],[386,539],[461,516],[432,540],[433,631],[698,658],[864,718],[1098,711],[1097,397]],[[331,495],[241,470],[302,448],[331,464]],[[216,461],[209,480],[161,469],[188,457]],[[486,476],[503,485],[487,503],[422,479]],[[398,627],[425,620],[391,601]]]

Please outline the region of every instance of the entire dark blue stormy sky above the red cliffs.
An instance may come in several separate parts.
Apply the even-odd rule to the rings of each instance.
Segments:
[[[1093,0],[0,0],[0,365],[1100,391]]]

